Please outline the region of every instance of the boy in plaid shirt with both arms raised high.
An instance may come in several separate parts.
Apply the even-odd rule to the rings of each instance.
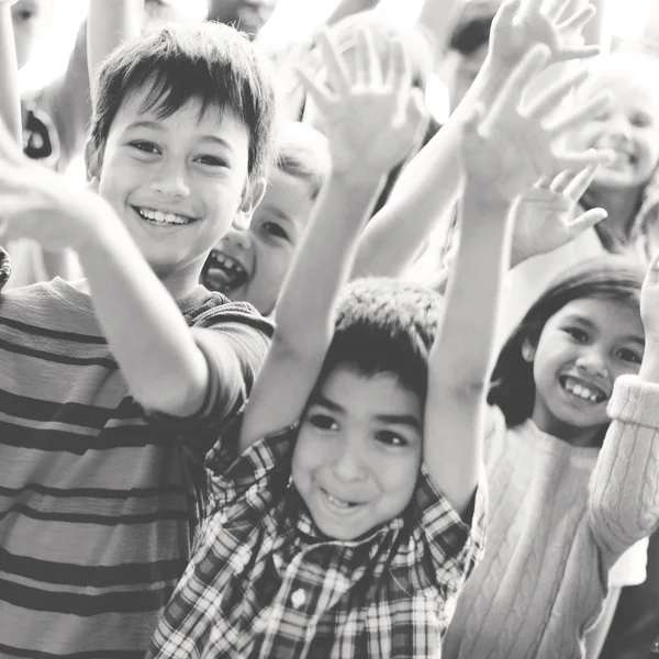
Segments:
[[[362,51],[358,60],[367,62]],[[494,264],[503,259],[512,203],[534,177],[530,149],[541,167],[562,161],[550,148],[556,133],[543,122],[567,85],[538,99],[532,115],[516,111],[547,55],[541,47],[530,52],[478,130],[474,121],[466,127],[467,180],[474,183],[468,189],[476,193],[466,224],[482,224],[481,211],[495,201],[491,228],[482,232]],[[209,459],[212,514],[149,657],[438,656],[455,597],[482,551],[484,396],[471,378],[488,369],[445,367],[444,338],[434,338],[438,300],[423,289],[358,281],[333,322],[376,198],[336,204],[333,192],[349,185],[364,194],[366,181],[381,185],[383,154],[395,161],[404,141],[395,123],[387,125],[395,105],[376,112],[373,102],[393,96],[400,103],[394,90],[402,96],[405,79],[409,89],[409,72],[394,60],[382,89],[367,86],[359,69],[350,91],[331,48],[326,62],[334,94],[305,81],[332,130],[334,170],[278,303],[272,347],[242,425]],[[364,177],[357,182],[346,178],[356,161]],[[373,163],[378,176],[369,171]],[[493,333],[498,295],[488,281],[498,278],[484,260],[488,275],[479,283],[492,294],[479,320],[483,333]],[[449,304],[456,300],[459,291]],[[485,361],[489,343],[472,346]],[[462,416],[460,402],[474,393],[481,402]]]

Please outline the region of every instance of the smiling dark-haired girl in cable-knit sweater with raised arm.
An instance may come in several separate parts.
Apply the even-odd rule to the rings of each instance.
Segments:
[[[502,349],[485,458],[496,504],[488,552],[449,627],[447,656],[581,657],[608,569],[657,523],[656,474],[637,453],[639,431],[621,434],[618,424],[600,450],[607,405],[614,420],[628,421],[645,407],[637,386],[615,383],[636,375],[641,359],[656,359],[651,344],[644,357],[641,281],[638,267],[614,257],[574,268]]]

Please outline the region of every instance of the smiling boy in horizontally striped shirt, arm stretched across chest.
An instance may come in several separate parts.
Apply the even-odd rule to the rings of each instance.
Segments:
[[[263,193],[268,74],[221,25],[115,51],[87,148],[100,196],[0,133],[3,236],[75,249],[87,277],[0,298],[4,657],[142,657],[183,571],[205,454],[270,334],[250,305],[199,286]]]

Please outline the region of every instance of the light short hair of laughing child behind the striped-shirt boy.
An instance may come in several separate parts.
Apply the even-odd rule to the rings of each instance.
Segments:
[[[332,169],[330,143],[319,131],[298,121],[277,131],[277,169],[309,185],[315,200]]]

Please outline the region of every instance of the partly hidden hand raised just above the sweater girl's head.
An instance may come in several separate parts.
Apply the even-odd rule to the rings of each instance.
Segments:
[[[604,209],[576,215],[596,170],[593,164],[579,172],[543,177],[528,189],[515,210],[512,264],[558,249],[606,217]]]

